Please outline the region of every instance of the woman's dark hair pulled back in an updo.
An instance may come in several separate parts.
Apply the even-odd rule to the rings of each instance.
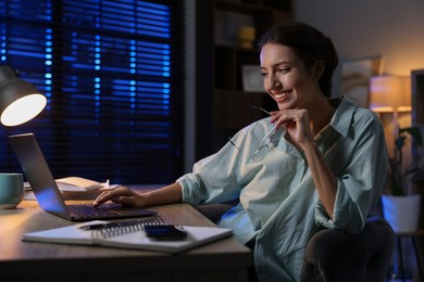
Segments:
[[[266,43],[276,43],[292,48],[305,66],[312,67],[316,62],[324,63],[320,78],[320,88],[324,95],[332,95],[333,73],[338,64],[338,55],[332,40],[316,28],[300,22],[283,22],[271,27],[258,41],[261,50]]]

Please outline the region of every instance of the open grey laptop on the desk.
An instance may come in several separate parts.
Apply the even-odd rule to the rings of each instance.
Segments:
[[[68,205],[62,197],[34,133],[10,136],[9,141],[39,206],[48,213],[71,221],[145,217],[157,214],[149,209],[125,207],[120,204],[107,203],[99,207],[89,204]]]

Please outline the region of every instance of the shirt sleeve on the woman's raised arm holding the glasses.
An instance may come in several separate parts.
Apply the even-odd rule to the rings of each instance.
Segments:
[[[348,155],[346,152],[351,152],[351,155],[348,162],[342,162],[348,165],[336,175],[337,195],[333,219],[317,200],[315,220],[326,228],[354,234],[362,230],[370,209],[378,201],[386,179],[388,157],[381,120],[364,110],[353,117],[356,120],[337,149],[340,155]],[[333,163],[337,164],[335,161]]]

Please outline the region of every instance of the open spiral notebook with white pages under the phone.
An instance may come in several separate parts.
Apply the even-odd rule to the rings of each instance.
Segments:
[[[146,235],[144,227],[147,225],[164,225],[164,221],[158,216],[112,223],[95,220],[74,226],[25,233],[22,240],[58,244],[98,245],[177,254],[233,234],[233,231],[226,228],[183,226],[182,228],[187,232],[187,238],[184,240],[157,241]],[[92,226],[99,226],[101,228],[87,228]]]

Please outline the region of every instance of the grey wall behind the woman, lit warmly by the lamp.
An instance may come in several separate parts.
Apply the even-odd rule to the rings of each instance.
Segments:
[[[327,34],[340,63],[382,55],[384,73],[410,75],[424,68],[424,1],[292,0],[295,18]],[[339,92],[340,67],[334,93]]]

